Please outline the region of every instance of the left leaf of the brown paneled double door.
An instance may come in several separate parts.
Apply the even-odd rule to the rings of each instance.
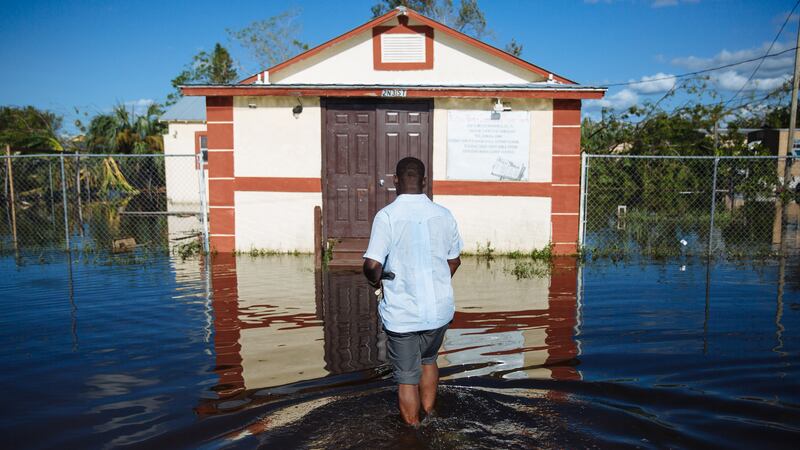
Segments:
[[[325,128],[327,235],[369,237],[375,215],[375,108],[329,101]]]

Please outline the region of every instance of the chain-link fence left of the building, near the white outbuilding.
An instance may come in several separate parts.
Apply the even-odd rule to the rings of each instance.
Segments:
[[[0,252],[198,251],[207,243],[204,171],[194,155],[0,156]]]

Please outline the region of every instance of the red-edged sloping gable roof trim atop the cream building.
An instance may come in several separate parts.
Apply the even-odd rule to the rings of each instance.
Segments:
[[[360,34],[360,33],[364,32],[364,31],[370,30],[370,29],[372,29],[372,28],[374,28],[376,26],[382,25],[382,24],[384,24],[384,23],[386,23],[386,22],[388,22],[388,21],[390,21],[390,20],[392,20],[392,19],[394,19],[395,17],[398,17],[398,16],[407,16],[407,17],[409,17],[411,19],[414,19],[414,20],[416,20],[418,22],[421,22],[421,23],[433,28],[434,30],[441,31],[443,33],[446,33],[446,34],[450,35],[451,37],[453,37],[455,39],[458,39],[458,40],[460,40],[462,42],[465,42],[468,45],[472,45],[474,47],[477,47],[477,48],[481,49],[482,51],[484,51],[484,52],[486,52],[486,53],[488,53],[490,55],[499,57],[500,59],[503,59],[506,62],[509,62],[511,64],[519,66],[519,67],[521,67],[521,68],[523,68],[525,70],[529,70],[531,72],[537,73],[537,74],[543,76],[545,79],[550,78],[550,76],[552,75],[553,80],[558,81],[560,83],[572,84],[572,85],[577,84],[572,80],[569,80],[569,79],[567,79],[565,77],[562,77],[561,75],[557,75],[557,74],[555,74],[555,73],[553,73],[553,72],[551,72],[549,70],[543,69],[542,67],[539,67],[537,65],[531,64],[531,63],[529,63],[529,62],[527,62],[527,61],[525,61],[525,60],[523,60],[521,58],[518,58],[518,57],[516,57],[516,56],[514,56],[514,55],[512,55],[510,53],[507,53],[507,52],[505,52],[503,50],[500,50],[497,47],[493,47],[493,46],[491,46],[491,45],[489,45],[489,44],[487,44],[487,43],[485,43],[483,41],[479,41],[479,40],[477,40],[477,39],[475,39],[473,37],[467,36],[466,34],[461,33],[460,31],[454,30],[453,28],[450,28],[447,25],[439,23],[439,22],[437,22],[437,21],[435,21],[435,20],[433,20],[433,19],[431,19],[429,17],[423,16],[422,14],[420,14],[420,13],[418,13],[416,11],[407,9],[405,7],[402,7],[402,6],[396,8],[396,9],[393,9],[393,10],[387,12],[386,14],[380,16],[380,17],[376,17],[375,19],[370,20],[369,22],[367,22],[367,23],[365,23],[365,24],[363,24],[363,25],[361,25],[359,27],[356,27],[356,28],[354,28],[354,29],[352,29],[352,30],[340,35],[340,36],[337,36],[337,37],[331,39],[330,41],[327,41],[327,42],[325,42],[325,43],[323,43],[321,45],[318,45],[318,46],[316,46],[316,47],[314,47],[314,48],[312,48],[310,50],[307,50],[307,51],[305,51],[305,52],[303,52],[303,53],[301,53],[301,54],[299,54],[299,55],[297,55],[297,56],[295,56],[293,58],[290,58],[290,59],[288,59],[288,60],[286,60],[286,61],[284,61],[284,62],[282,62],[280,64],[272,66],[272,67],[266,69],[265,72],[268,72],[269,74],[275,74],[277,72],[280,72],[281,70],[283,70],[283,69],[285,69],[285,68],[287,68],[287,67],[289,67],[289,66],[291,66],[291,65],[293,65],[293,64],[295,64],[295,63],[297,63],[299,61],[303,61],[303,60],[305,60],[305,59],[307,59],[309,57],[312,57],[312,56],[322,52],[323,50],[325,50],[325,49],[327,49],[327,48],[329,48],[329,47],[331,47],[333,45],[336,45],[336,44],[338,44],[338,43],[340,43],[342,41],[350,39],[353,36],[355,36],[357,34]],[[259,74],[260,73],[263,73],[263,72],[259,72]],[[253,84],[253,83],[256,82],[257,77],[258,77],[259,74],[255,74],[255,75],[252,75],[252,76],[250,76],[248,78],[245,78],[244,80],[240,81],[239,84]]]

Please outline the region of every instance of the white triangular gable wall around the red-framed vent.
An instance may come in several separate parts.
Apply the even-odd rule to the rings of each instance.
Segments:
[[[393,22],[387,23],[396,24]],[[413,21],[411,25],[415,25]],[[542,81],[541,75],[434,30],[433,69],[375,70],[372,30],[269,74],[270,83],[502,84]]]

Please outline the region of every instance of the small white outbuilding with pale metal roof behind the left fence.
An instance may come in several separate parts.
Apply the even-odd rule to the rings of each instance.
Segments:
[[[183,97],[161,116],[167,124],[165,155],[203,155],[208,159],[206,101],[203,97]],[[197,162],[191,158],[167,157],[164,163],[167,198],[170,203],[199,204]]]

